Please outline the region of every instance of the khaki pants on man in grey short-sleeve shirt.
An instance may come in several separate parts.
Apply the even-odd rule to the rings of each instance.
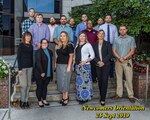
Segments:
[[[130,63],[131,66],[128,66]],[[123,94],[123,72],[125,74],[126,82],[125,86],[128,92],[128,97],[133,98],[133,70],[132,70],[132,60],[128,60],[126,63],[120,63],[116,61],[115,63],[115,70],[116,70],[116,78],[117,78],[117,95],[122,97]]]

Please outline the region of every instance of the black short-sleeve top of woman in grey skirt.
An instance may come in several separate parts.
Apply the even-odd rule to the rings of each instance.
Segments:
[[[74,47],[72,44],[68,44],[65,48],[63,46],[56,50],[57,64],[68,64],[69,54],[74,53]]]

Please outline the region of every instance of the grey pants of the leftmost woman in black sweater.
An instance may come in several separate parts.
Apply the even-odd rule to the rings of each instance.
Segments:
[[[32,67],[22,69],[23,74],[19,75],[19,83],[21,87],[21,101],[27,102],[29,98],[29,90],[31,87]]]

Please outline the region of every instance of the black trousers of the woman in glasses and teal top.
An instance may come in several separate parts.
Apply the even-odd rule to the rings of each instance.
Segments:
[[[36,79],[36,96],[38,101],[46,100],[47,96],[47,85],[49,84],[50,78]]]

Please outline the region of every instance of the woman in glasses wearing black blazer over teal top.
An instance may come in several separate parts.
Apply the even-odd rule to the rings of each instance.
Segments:
[[[52,69],[52,51],[48,49],[48,41],[44,38],[41,40],[41,48],[36,52],[36,95],[38,98],[39,107],[48,106],[49,103],[46,100],[47,85],[53,78]]]

